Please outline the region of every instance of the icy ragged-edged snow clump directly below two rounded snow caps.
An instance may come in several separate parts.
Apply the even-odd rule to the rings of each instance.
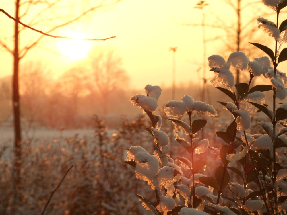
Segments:
[[[215,74],[210,81],[214,87],[224,87],[232,90],[234,85],[234,76],[228,69],[214,68],[211,69],[211,71],[214,71]]]

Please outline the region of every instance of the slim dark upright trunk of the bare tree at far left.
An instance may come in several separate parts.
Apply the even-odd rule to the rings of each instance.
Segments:
[[[19,19],[20,0],[15,3],[15,18]],[[14,114],[14,163],[13,163],[13,206],[15,210],[21,201],[21,125],[20,125],[20,103],[19,103],[19,29],[18,22],[15,22],[14,29],[14,68],[13,68],[13,114]]]

